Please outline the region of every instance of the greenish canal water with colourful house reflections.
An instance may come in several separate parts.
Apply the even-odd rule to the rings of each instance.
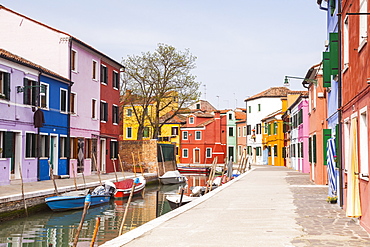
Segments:
[[[130,231],[171,210],[165,197],[176,194],[186,186],[185,194],[190,194],[190,187],[204,185],[206,177],[189,176],[188,184],[151,185],[143,195],[135,196],[130,204],[124,224],[124,232]],[[96,218],[100,217],[100,227],[96,246],[118,236],[127,199],[112,199],[104,204],[89,209],[81,230],[78,246],[89,246],[95,228]],[[52,212],[48,208],[43,212],[2,222],[0,225],[0,247],[5,246],[70,246],[79,225],[82,210]]]

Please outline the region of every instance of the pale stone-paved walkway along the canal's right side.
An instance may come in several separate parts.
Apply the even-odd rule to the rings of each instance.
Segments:
[[[370,246],[369,234],[326,197],[307,174],[254,166],[102,246]]]

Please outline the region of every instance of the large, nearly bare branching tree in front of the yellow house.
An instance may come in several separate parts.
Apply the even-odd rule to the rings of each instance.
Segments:
[[[189,49],[178,51],[173,46],[158,44],[153,52],[128,56],[125,66],[124,104],[131,105],[142,139],[145,123],[149,122],[152,138],[158,138],[160,129],[178,111],[199,99],[200,82],[191,74],[196,57]],[[168,114],[170,113],[170,114]],[[166,115],[165,119],[160,117]]]

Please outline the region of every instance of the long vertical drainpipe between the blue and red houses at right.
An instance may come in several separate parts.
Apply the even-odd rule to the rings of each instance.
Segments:
[[[338,0],[338,154],[339,154],[339,206],[343,208],[343,159],[342,159],[342,1]],[[337,156],[338,156],[337,154]]]

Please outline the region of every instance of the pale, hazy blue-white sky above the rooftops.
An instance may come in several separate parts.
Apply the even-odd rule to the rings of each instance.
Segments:
[[[64,31],[121,62],[159,43],[197,57],[191,74],[201,99],[218,109],[321,62],[326,12],[316,0],[1,0],[1,5]],[[290,89],[304,90],[302,80]]]

